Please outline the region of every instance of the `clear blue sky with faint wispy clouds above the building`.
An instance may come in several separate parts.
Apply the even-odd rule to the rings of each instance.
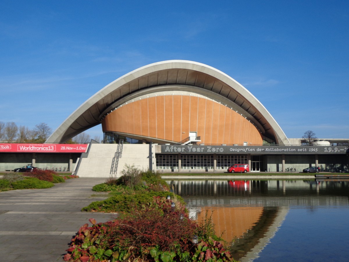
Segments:
[[[2,0],[0,121],[55,130],[120,76],[184,59],[245,86],[289,138],[349,138],[348,29],[348,1]]]

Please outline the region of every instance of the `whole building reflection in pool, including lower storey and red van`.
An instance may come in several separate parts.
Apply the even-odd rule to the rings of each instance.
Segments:
[[[172,180],[196,219],[212,213],[215,229],[236,260],[249,261],[273,238],[290,206],[348,206],[349,181]],[[335,197],[333,197],[335,195]]]

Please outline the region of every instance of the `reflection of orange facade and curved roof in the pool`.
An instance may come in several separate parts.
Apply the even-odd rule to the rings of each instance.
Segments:
[[[204,220],[206,215],[211,217],[217,235],[230,245],[234,259],[248,261],[258,256],[273,238],[288,207],[203,206],[194,208],[194,212],[198,221]]]

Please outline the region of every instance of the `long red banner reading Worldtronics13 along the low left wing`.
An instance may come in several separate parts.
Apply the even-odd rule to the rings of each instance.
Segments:
[[[84,153],[88,144],[0,144],[0,152]]]

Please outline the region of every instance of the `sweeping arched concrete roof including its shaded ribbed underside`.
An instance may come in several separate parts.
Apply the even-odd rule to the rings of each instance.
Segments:
[[[225,73],[205,64],[170,60],[143,66],[116,79],[79,106],[47,139],[46,143],[65,142],[99,125],[108,112],[129,99],[159,91],[180,90],[211,94],[209,98],[237,109],[277,144],[289,141],[267,109],[245,87]]]

